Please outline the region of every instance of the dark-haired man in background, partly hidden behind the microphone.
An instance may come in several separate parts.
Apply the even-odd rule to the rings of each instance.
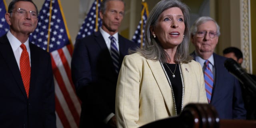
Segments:
[[[236,60],[238,64],[243,62],[242,51],[236,47],[228,47],[223,50],[223,56],[226,58],[232,58]],[[252,80],[256,80],[256,76],[253,74],[248,74]],[[250,89],[249,85],[242,84],[242,96],[244,99],[244,107],[246,108],[247,115],[246,119],[255,120],[256,119],[256,94]]]

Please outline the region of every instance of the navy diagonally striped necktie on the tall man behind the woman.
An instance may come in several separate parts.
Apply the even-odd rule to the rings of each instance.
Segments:
[[[116,39],[113,36],[110,36],[109,38],[111,40],[110,55],[113,60],[115,71],[118,74],[118,72],[119,72],[119,52],[118,52],[117,45],[116,45]]]

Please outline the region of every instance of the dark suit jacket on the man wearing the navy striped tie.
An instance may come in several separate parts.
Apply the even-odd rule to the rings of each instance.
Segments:
[[[119,67],[136,44],[118,34]],[[72,79],[76,93],[82,100],[80,128],[106,127],[103,120],[115,113],[116,82],[118,74],[102,34],[98,31],[78,39],[71,61]]]

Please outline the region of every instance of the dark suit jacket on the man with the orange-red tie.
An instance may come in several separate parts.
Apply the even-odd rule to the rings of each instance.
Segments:
[[[30,45],[29,98],[6,35],[0,37],[0,128],[56,128],[50,54]]]

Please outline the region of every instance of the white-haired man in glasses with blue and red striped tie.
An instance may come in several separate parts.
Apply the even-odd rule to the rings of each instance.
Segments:
[[[203,70],[206,70],[204,62],[210,61],[207,68],[213,74],[213,85],[209,86],[208,76],[205,76],[206,95],[211,96],[208,102],[216,108],[220,119],[245,119],[240,84],[224,67],[227,58],[214,53],[219,36],[220,27],[214,19],[207,16],[198,18],[191,28],[191,40],[196,48],[192,55]]]

